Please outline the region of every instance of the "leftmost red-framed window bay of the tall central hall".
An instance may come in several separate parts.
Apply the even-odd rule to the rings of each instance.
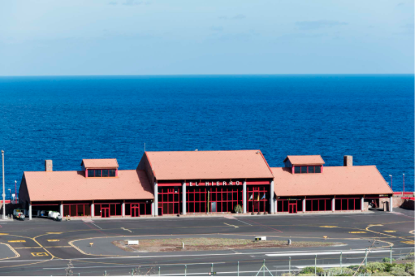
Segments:
[[[176,190],[176,192],[175,192]],[[158,208],[161,208],[159,215],[177,215],[182,212],[180,205],[182,187],[159,187],[158,188]]]

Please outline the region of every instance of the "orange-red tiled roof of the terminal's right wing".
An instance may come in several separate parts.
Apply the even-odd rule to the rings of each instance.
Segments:
[[[323,167],[323,173],[292,174],[291,168],[272,167],[277,196],[392,194],[374,165]]]

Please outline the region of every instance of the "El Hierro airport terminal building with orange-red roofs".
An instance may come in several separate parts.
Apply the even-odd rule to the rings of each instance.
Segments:
[[[269,167],[259,150],[145,152],[138,167],[84,159],[80,171],[24,171],[19,201],[63,217],[157,217],[234,212],[287,214],[392,211],[392,190],[375,166],[327,167],[321,156],[287,156]]]

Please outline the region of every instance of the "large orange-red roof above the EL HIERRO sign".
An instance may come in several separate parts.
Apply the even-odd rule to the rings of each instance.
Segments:
[[[146,152],[145,156],[157,180],[273,178],[259,150]]]

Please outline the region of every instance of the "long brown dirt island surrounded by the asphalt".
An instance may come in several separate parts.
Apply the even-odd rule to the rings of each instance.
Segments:
[[[182,242],[185,248],[182,249]],[[115,246],[125,251],[140,252],[166,252],[166,251],[211,251],[211,250],[230,250],[230,249],[260,249],[275,247],[309,247],[309,246],[331,246],[334,242],[291,242],[266,240],[254,242],[253,240],[193,237],[181,239],[157,239],[139,240],[139,245],[127,245],[127,240],[117,240],[112,242]]]

